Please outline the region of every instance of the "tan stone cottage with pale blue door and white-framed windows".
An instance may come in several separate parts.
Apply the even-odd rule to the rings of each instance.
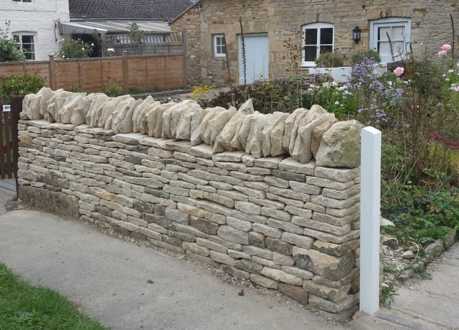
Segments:
[[[348,60],[357,51],[374,49],[385,63],[393,61],[390,43],[395,60],[410,47],[418,55],[426,48],[436,53],[453,39],[450,14],[459,18],[457,1],[199,0],[170,24],[172,31],[188,30],[189,85],[228,85],[243,83],[244,76],[247,83],[285,78],[292,66],[308,72],[323,51]],[[353,40],[356,26],[358,42]],[[287,46],[299,49],[295,58]]]

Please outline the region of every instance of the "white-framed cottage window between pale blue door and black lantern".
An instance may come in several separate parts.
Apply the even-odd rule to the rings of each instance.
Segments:
[[[334,49],[333,24],[314,23],[303,26],[303,66],[316,66],[316,58],[321,53]]]

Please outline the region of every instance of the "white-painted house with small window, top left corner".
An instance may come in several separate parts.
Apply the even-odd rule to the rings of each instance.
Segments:
[[[57,53],[59,23],[69,22],[69,0],[0,0],[0,26],[11,21],[9,33],[27,50],[28,61],[45,61]]]

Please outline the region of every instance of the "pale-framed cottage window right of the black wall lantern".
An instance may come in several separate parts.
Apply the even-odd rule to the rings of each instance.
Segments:
[[[390,48],[395,61],[406,57],[410,35],[411,19],[391,17],[370,21],[370,49],[377,51],[384,63],[393,61]]]

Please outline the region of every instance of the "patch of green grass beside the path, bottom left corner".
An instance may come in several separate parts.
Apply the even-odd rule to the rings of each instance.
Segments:
[[[22,281],[0,264],[0,330],[102,330],[71,301]]]

